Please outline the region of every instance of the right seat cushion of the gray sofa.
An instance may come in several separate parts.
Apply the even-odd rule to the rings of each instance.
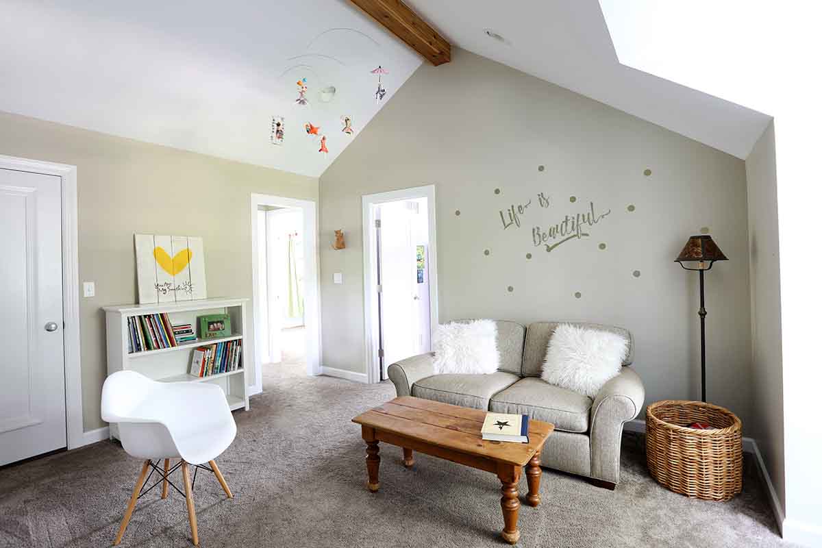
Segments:
[[[565,432],[587,432],[593,399],[525,377],[491,398],[492,412],[528,415]]]

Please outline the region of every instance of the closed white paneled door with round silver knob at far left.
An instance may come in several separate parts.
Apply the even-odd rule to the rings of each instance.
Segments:
[[[0,465],[66,447],[60,192],[0,169]]]

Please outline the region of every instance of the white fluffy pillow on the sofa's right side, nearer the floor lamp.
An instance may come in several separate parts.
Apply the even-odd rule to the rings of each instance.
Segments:
[[[619,374],[627,353],[628,341],[621,335],[561,324],[548,342],[543,380],[596,398]]]

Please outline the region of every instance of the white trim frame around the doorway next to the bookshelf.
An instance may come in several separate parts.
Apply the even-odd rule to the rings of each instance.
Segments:
[[[305,250],[304,279],[305,287],[302,297],[306,326],[306,369],[308,375],[320,375],[321,336],[320,336],[320,279],[318,272],[320,247],[317,239],[316,202],[298,200],[284,196],[254,194],[251,196],[252,224],[252,325],[254,344],[252,345],[252,363],[254,364],[254,385],[249,387],[249,395],[262,392],[262,364],[257,345],[260,343],[260,329],[257,324],[257,287],[260,283],[259,257],[257,256],[257,210],[261,205],[289,207],[302,210],[302,246]],[[310,252],[313,250],[313,252]]]

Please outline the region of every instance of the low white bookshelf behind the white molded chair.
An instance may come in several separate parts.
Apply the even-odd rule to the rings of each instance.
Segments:
[[[205,345],[242,339],[250,325],[247,323],[246,298],[213,298],[188,302],[168,302],[148,305],[104,306],[106,347],[109,375],[115,371],[137,371],[161,382],[207,382],[218,385],[229,402],[229,407],[248,410],[248,383],[246,377],[246,348],[240,355],[236,371],[207,377],[189,375],[192,352]],[[197,332],[197,318],[201,315],[228,314],[232,333],[228,337],[197,339],[172,348],[128,352],[128,318],[146,314],[168,314],[172,325],[191,324]],[[111,425],[111,435],[117,437],[117,428]]]

